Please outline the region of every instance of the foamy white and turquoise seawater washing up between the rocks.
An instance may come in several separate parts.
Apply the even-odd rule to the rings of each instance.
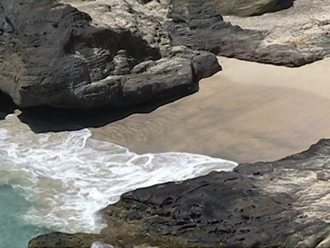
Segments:
[[[138,155],[88,129],[34,134],[7,116],[0,121],[0,244],[26,247],[47,231],[98,233],[97,212],[124,192],[235,166],[198,154]]]

